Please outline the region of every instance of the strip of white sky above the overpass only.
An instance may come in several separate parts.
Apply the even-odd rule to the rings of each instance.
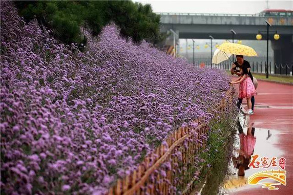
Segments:
[[[267,0],[134,0],[151,4],[153,12],[255,14],[267,7]],[[293,0],[269,0],[270,9],[293,10]]]

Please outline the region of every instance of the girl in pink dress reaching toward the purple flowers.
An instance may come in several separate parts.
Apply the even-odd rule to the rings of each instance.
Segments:
[[[251,110],[251,96],[256,95],[256,90],[254,88],[254,85],[251,81],[251,78],[248,75],[247,68],[241,68],[240,73],[242,76],[238,77],[235,81],[231,82],[231,84],[237,84],[240,83],[239,86],[239,98],[246,98],[247,100],[247,112],[249,114],[253,114]]]

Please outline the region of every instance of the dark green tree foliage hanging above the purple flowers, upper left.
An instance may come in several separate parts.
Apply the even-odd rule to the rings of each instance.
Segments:
[[[114,22],[120,36],[140,44],[143,40],[162,39],[160,16],[149,4],[132,1],[15,1],[26,22],[36,18],[39,24],[53,31],[66,44],[85,44],[81,28],[98,35],[103,27]],[[150,41],[151,42],[151,41]]]

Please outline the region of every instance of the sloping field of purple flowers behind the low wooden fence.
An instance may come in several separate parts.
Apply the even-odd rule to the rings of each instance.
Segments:
[[[50,34],[1,1],[4,194],[105,193],[169,132],[211,119],[229,88],[220,70],[126,43],[115,26],[84,53]]]

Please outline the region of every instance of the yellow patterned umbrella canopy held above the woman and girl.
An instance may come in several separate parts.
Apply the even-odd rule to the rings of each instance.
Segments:
[[[226,53],[243,55],[243,56],[257,56],[257,53],[250,46],[237,43],[222,43],[219,50]]]

